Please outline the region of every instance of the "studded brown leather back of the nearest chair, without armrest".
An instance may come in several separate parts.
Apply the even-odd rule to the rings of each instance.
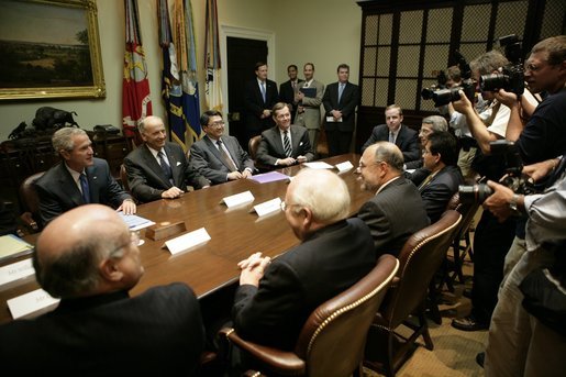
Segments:
[[[398,268],[392,255],[381,256],[362,280],[311,313],[295,350],[308,376],[349,376],[356,370],[369,325]]]

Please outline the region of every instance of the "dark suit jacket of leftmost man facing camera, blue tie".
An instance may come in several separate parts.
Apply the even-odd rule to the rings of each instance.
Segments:
[[[110,167],[104,159],[93,158],[92,166],[87,166],[85,173],[90,190],[90,202],[119,208],[125,199],[132,199],[110,174]],[[40,197],[40,214],[43,225],[70,209],[85,204],[82,195],[67,170],[65,163],[59,163],[48,169],[35,181]]]

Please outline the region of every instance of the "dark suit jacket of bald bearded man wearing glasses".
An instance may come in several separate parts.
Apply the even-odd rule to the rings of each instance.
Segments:
[[[381,254],[398,256],[404,242],[429,225],[419,190],[403,177],[390,181],[364,203],[357,217],[371,230],[377,257]]]

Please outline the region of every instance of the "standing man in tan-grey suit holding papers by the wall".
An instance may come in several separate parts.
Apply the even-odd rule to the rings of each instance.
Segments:
[[[314,64],[312,63],[304,65],[303,75],[304,81],[299,84],[299,92],[295,96],[295,101],[299,103],[295,124],[306,126],[309,130],[312,151],[317,152],[320,133],[320,104],[324,95],[324,84],[313,78]],[[303,90],[303,88],[307,89]],[[308,88],[314,88],[315,90]]]

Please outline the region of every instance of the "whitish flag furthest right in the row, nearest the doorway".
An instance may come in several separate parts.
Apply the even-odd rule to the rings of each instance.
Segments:
[[[207,69],[207,107],[210,110],[222,111],[217,0],[207,0],[204,69]]]

